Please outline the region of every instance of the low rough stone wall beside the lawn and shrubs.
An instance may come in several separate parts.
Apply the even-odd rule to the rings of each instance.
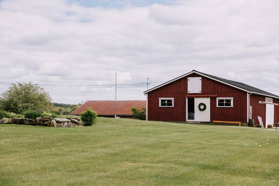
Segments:
[[[75,127],[83,126],[81,119],[72,117],[66,118],[52,118],[52,117],[37,117],[36,119],[10,118],[0,119],[3,124],[21,124],[34,126],[48,126],[48,127]]]

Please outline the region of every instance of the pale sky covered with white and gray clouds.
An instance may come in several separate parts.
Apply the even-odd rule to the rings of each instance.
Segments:
[[[279,1],[0,0],[3,83],[149,88],[193,69],[279,95]],[[45,86],[54,102],[114,100],[115,86]],[[117,100],[145,100],[146,84]],[[0,92],[1,93],[1,92]]]

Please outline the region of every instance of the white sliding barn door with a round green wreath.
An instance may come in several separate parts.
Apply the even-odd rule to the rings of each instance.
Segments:
[[[204,111],[198,109],[200,103],[205,103]],[[210,122],[210,98],[195,98],[195,121]]]

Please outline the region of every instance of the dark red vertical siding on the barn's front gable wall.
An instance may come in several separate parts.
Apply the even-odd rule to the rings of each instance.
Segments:
[[[202,77],[202,93],[187,94],[187,78]],[[148,93],[148,120],[186,121],[186,96],[217,95],[233,97],[233,108],[216,107],[216,98],[210,98],[210,121],[247,122],[247,92],[225,85],[210,78],[190,74]],[[159,107],[159,98],[174,98],[174,107]]]

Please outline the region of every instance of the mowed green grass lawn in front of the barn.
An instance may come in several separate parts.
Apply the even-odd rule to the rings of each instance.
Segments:
[[[278,134],[109,118],[1,124],[0,185],[278,185]]]

